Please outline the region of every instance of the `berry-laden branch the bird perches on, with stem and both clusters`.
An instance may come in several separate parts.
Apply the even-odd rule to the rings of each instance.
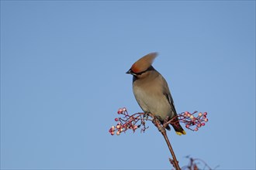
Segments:
[[[197,113],[197,111],[192,114],[190,114],[188,111],[185,111],[182,114],[178,114],[176,117],[171,118],[170,121],[168,121],[168,117],[166,117],[164,123],[161,124],[157,117],[154,117],[153,114],[137,113],[130,115],[128,114],[126,108],[123,107],[117,111],[117,114],[121,114],[123,115],[123,117],[115,118],[115,121],[118,121],[118,123],[116,124],[116,126],[112,126],[109,129],[109,133],[114,135],[116,131],[116,134],[119,135],[129,129],[133,130],[134,133],[137,128],[141,128],[141,132],[145,132],[148,128],[146,127],[146,121],[152,121],[153,124],[157,127],[158,131],[160,131],[161,134],[164,136],[164,140],[168,145],[169,151],[171,152],[171,156],[173,158],[169,158],[171,165],[173,165],[176,170],[180,170],[181,168],[178,165],[178,160],[175,156],[175,152],[171,147],[171,142],[168,139],[165,128],[168,127],[168,124],[174,125],[178,122],[181,122],[184,123],[185,127],[190,129],[191,131],[198,131],[199,128],[205,126],[205,122],[208,121],[208,118],[206,118],[206,112],[204,112],[203,114],[200,112],[197,117],[195,117],[195,113]]]

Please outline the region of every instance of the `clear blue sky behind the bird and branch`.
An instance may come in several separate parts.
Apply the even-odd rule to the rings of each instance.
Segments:
[[[168,131],[180,165],[254,169],[254,1],[1,1],[1,168],[172,168],[151,122],[108,132],[141,111],[125,73],[151,52],[176,110],[209,113]]]

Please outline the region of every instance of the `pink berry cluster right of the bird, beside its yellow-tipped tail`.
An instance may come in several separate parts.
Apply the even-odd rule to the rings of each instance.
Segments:
[[[194,113],[189,113],[189,111],[185,111],[182,114],[178,114],[178,120],[180,122],[183,122],[185,124],[185,128],[188,128],[192,131],[198,131],[199,128],[206,125],[206,122],[208,121],[207,118],[207,112],[199,112],[198,116],[195,117],[195,111]]]

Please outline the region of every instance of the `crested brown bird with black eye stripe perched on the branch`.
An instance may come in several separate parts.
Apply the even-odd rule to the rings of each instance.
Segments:
[[[156,57],[157,53],[149,53],[133,63],[130,70],[126,72],[133,75],[134,97],[144,113],[153,114],[161,124],[164,123],[166,117],[168,117],[168,121],[175,117],[175,121],[178,122],[177,111],[168,83],[164,76],[152,66]],[[186,134],[179,122],[171,125],[176,134]],[[171,130],[169,126],[166,129]]]

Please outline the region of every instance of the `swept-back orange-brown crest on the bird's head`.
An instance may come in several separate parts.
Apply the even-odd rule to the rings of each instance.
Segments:
[[[131,70],[133,73],[140,73],[147,70],[154,61],[154,58],[157,57],[157,53],[149,53],[146,56],[143,56],[137,62],[133,63]]]

